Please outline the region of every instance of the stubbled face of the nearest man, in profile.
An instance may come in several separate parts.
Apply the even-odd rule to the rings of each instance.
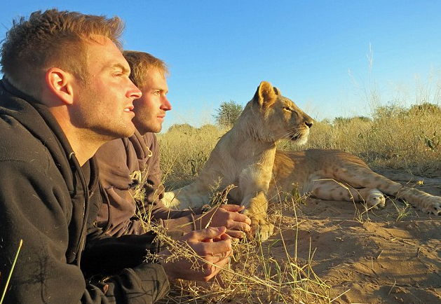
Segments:
[[[135,132],[133,100],[141,91],[130,81],[130,67],[121,52],[102,36],[88,44],[88,80],[77,83],[74,116],[103,139],[128,137]],[[78,120],[79,118],[79,120]]]

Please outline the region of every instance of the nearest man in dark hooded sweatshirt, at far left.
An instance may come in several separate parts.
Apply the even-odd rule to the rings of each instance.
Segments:
[[[121,54],[122,29],[118,18],[53,9],[21,18],[6,34],[0,290],[20,240],[22,247],[4,303],[154,303],[168,292],[168,279],[207,280],[229,261],[224,227],[177,238],[206,255],[201,270],[189,261],[145,261],[147,251],[164,262],[170,254],[154,233],[109,237],[91,224],[102,191],[93,155],[133,134],[133,100],[142,96]]]

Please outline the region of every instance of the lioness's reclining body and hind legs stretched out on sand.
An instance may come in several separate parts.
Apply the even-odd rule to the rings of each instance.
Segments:
[[[291,194],[294,188],[320,200],[365,201],[370,207],[384,207],[386,194],[423,212],[441,212],[440,197],[402,186],[373,172],[357,156],[339,150],[277,151],[268,197],[280,200],[280,193]]]

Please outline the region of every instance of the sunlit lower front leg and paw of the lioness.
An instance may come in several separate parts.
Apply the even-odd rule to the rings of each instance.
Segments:
[[[274,225],[269,223],[266,211],[268,200],[263,192],[259,192],[254,198],[243,202],[245,210],[243,214],[251,219],[251,233],[258,240],[265,241],[273,234]]]

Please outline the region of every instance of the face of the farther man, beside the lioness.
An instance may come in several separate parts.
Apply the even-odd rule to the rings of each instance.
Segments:
[[[167,92],[168,85],[163,74],[158,69],[153,69],[142,88],[142,97],[133,102],[133,111],[136,114],[133,123],[140,134],[161,131],[165,111],[172,109],[166,97]]]

